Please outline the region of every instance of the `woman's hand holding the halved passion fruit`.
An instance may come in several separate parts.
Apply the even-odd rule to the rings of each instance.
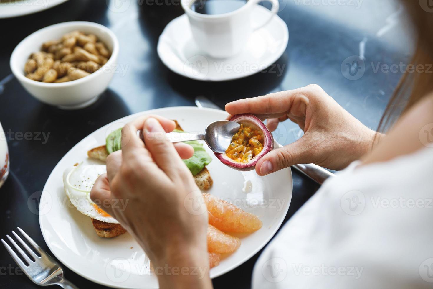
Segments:
[[[300,163],[343,169],[371,149],[375,132],[349,114],[316,84],[290,91],[242,99],[226,104],[229,114],[255,114],[268,119],[273,131],[278,122],[290,119],[304,136],[274,149],[257,162],[259,175]]]

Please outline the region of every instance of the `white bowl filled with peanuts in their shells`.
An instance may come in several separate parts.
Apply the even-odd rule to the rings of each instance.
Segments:
[[[21,41],[10,67],[29,94],[62,109],[97,101],[113,77],[119,43],[105,26],[86,21],[58,23]]]

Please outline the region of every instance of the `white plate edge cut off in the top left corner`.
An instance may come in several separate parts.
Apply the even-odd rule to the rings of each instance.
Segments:
[[[0,3],[0,18],[36,13],[66,1],[68,0],[6,0],[6,3]]]

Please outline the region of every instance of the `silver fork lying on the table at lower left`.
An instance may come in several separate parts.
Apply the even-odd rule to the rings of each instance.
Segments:
[[[10,243],[12,243],[13,247],[15,247],[16,250],[21,254],[23,257],[23,260],[26,260],[26,262],[29,264],[27,266],[15,253],[14,250],[7,244],[3,239],[1,239],[4,247],[6,247],[6,250],[10,253],[10,256],[12,256],[13,260],[18,264],[18,266],[23,270],[23,272],[27,275],[27,277],[30,278],[34,283],[40,285],[40,286],[48,286],[48,285],[59,285],[66,289],[78,289],[77,286],[69,282],[63,277],[63,269],[61,268],[60,264],[57,263],[50,255],[48,255],[44,250],[42,250],[41,247],[39,247],[38,244],[36,244],[35,241],[32,240],[32,238],[29,237],[29,235],[26,234],[23,230],[21,230],[20,227],[17,227],[18,230],[23,234],[23,236],[29,241],[29,243],[35,248],[35,250],[41,255],[39,257],[38,255],[33,252],[29,246],[27,246],[26,243],[14,232],[12,231],[12,234],[16,237],[16,239],[23,245],[24,248],[26,248],[27,252],[29,252],[29,255],[35,260],[29,258],[29,256],[21,249],[21,247],[16,244],[16,242],[9,237],[9,235],[6,235],[6,237],[10,240]]]

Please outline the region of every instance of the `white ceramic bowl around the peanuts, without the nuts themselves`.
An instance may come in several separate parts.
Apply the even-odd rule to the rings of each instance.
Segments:
[[[74,30],[96,35],[111,52],[108,62],[98,71],[74,81],[45,83],[26,78],[24,65],[30,54],[40,51],[42,43],[60,39],[64,34]],[[93,22],[71,21],[42,28],[19,42],[10,57],[10,68],[26,91],[39,101],[62,109],[79,109],[93,104],[107,88],[113,78],[118,54],[119,42],[110,29]]]

